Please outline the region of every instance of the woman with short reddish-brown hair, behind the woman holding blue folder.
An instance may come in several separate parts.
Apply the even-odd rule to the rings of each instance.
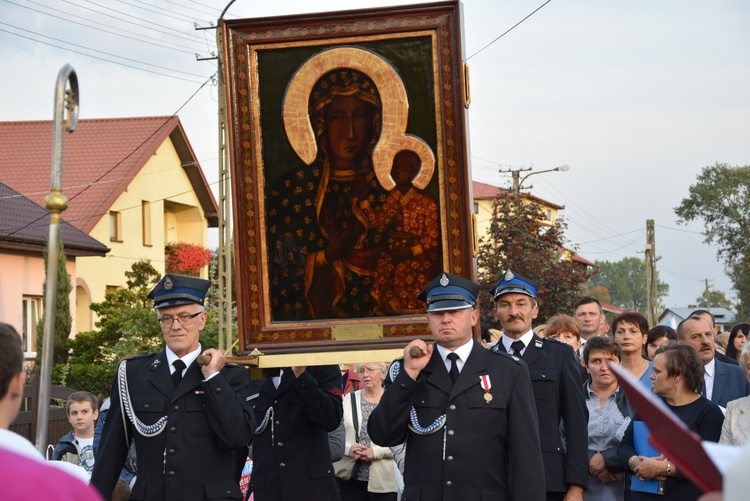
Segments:
[[[612,320],[615,341],[622,348],[622,368],[631,373],[638,382],[651,389],[653,365],[643,357],[646,346],[648,321],[636,311],[626,311]]]

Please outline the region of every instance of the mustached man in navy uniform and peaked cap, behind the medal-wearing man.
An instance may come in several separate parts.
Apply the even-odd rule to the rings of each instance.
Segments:
[[[492,290],[504,336],[493,350],[526,362],[539,416],[548,500],[583,499],[588,485],[588,410],[573,350],[534,334],[539,284],[508,270]]]

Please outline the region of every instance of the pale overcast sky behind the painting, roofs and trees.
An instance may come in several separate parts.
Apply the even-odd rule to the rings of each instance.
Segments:
[[[419,2],[237,0],[226,18],[403,3]],[[694,303],[706,279],[731,296],[702,226],[678,225],[673,208],[703,167],[750,164],[750,3],[552,0],[491,43],[542,4],[463,4],[472,177],[510,186],[499,169],[568,164],[526,184],[565,206],[582,256],[642,258],[654,219],[667,306]],[[194,23],[215,23],[225,5],[0,0],[0,119],[52,119],[57,73],[70,63],[81,118],[177,113],[216,191],[216,63],[195,57],[210,57],[215,33]]]

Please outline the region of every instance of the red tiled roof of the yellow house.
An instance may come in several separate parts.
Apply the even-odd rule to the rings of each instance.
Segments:
[[[177,117],[79,120],[63,140],[65,219],[90,233],[157,148],[171,137],[209,226],[218,208]],[[52,121],[0,122],[0,180],[39,205],[50,190]]]

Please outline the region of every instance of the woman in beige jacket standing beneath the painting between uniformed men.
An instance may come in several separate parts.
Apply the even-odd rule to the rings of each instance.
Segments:
[[[396,501],[393,452],[370,439],[367,422],[383,395],[384,363],[357,366],[362,389],[344,397],[345,457],[334,463],[341,501]]]

